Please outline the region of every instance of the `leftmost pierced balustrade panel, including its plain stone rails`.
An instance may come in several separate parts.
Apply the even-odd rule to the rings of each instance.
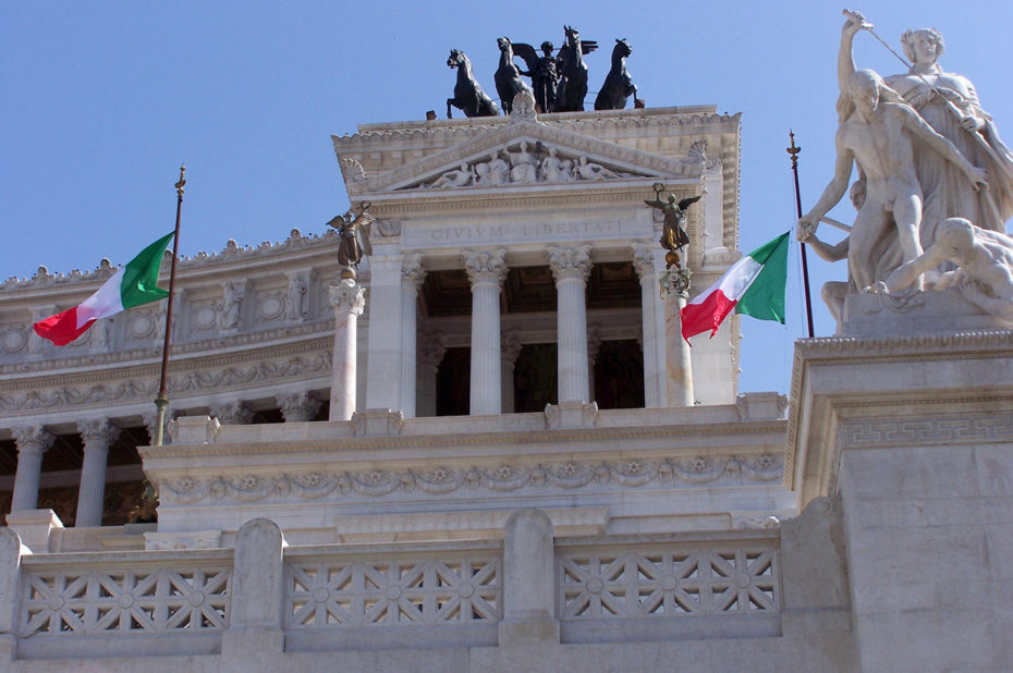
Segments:
[[[213,651],[229,626],[232,555],[220,549],[24,556],[19,653],[156,653],[169,643],[169,651]]]

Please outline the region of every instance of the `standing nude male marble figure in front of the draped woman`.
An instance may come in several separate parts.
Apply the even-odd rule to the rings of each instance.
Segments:
[[[866,182],[866,198],[855,218],[847,250],[847,266],[858,289],[877,280],[874,248],[887,229],[895,227],[904,261],[922,254],[922,187],[915,175],[912,142],[919,139],[957,167],[974,187],[987,186],[983,169],[972,166],[947,138],[903,102],[870,70],[852,73],[838,101],[837,162],[834,175],[813,209],[798,220],[800,237],[816,231],[819,219],[841,200],[852,166]],[[920,289],[920,277],[916,281]]]

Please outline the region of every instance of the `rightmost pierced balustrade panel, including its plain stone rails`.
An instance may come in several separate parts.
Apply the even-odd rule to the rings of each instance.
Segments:
[[[777,533],[561,541],[556,568],[564,640],[691,636],[716,620],[750,636],[780,625]]]

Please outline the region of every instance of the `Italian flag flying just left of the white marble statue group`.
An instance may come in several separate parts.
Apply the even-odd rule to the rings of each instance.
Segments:
[[[733,308],[736,314],[784,325],[789,233],[733,264],[717,283],[686,304],[680,313],[683,339],[689,341],[689,337],[707,330],[713,339]]]

